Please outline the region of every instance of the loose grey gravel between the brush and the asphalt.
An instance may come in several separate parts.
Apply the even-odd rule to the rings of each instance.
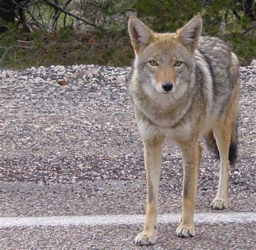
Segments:
[[[127,91],[131,67],[0,70],[0,182],[145,179],[143,144]],[[241,67],[239,156],[233,193],[255,185],[255,67]],[[204,150],[199,187],[216,189],[219,160]],[[178,148],[164,149],[161,179],[180,191]],[[215,192],[215,191],[214,191]]]

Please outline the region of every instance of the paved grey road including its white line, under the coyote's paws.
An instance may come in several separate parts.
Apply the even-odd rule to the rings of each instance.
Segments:
[[[212,211],[209,207],[213,197],[199,191],[197,235],[179,239],[174,231],[180,218],[180,194],[166,186],[168,183],[161,182],[159,212],[170,216],[160,218],[157,244],[137,247],[132,240],[143,227],[143,216],[137,216],[145,211],[142,180],[50,185],[2,183],[0,246],[3,249],[255,249],[255,197],[240,193],[230,197],[226,211]],[[110,214],[118,216],[109,218]],[[10,219],[3,221],[4,218]],[[39,223],[33,218],[39,219]],[[23,224],[17,226],[22,220]]]

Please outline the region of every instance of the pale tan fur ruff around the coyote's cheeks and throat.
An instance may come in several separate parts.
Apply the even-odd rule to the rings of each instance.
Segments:
[[[134,61],[134,65],[136,64],[137,62]],[[186,88],[177,88],[178,86],[176,86],[176,89],[172,89],[172,93],[158,93],[150,82],[151,79],[142,78],[139,69],[134,67],[130,92],[134,106],[138,112],[145,116],[145,119],[161,128],[175,127],[183,119],[198,93],[198,86],[195,86],[196,67],[194,60],[192,60],[191,65],[194,70],[189,75],[190,85],[187,85]]]

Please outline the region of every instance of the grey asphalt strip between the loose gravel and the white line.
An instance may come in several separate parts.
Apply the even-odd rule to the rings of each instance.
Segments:
[[[141,214],[146,209],[146,182],[109,180],[70,184],[1,183],[1,216],[69,216]],[[217,190],[215,190],[217,191]],[[210,208],[215,197],[198,190],[198,213],[219,213]],[[230,196],[230,212],[252,212],[256,196],[241,191]],[[181,192],[162,181],[159,213],[180,213]],[[224,211],[226,212],[226,211]]]

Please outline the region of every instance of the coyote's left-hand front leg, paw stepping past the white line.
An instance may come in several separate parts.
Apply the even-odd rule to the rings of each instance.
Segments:
[[[147,176],[147,209],[144,230],[135,238],[139,245],[152,245],[156,242],[157,234],[157,199],[161,168],[162,140],[144,142],[145,168]]]

